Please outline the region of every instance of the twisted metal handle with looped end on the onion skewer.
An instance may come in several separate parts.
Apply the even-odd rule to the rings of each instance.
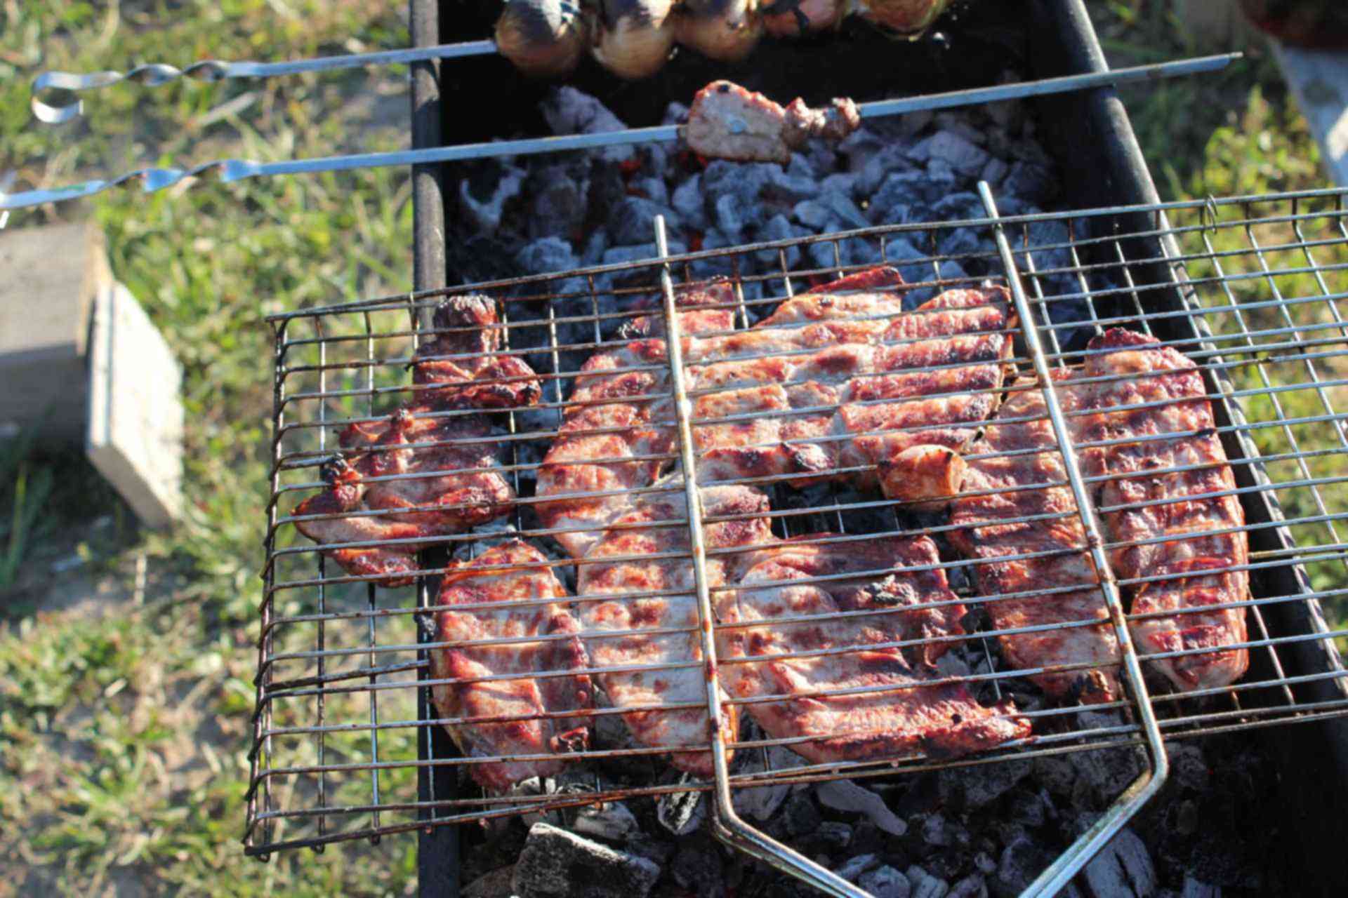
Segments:
[[[152,62],[136,66],[129,71],[43,71],[32,79],[28,106],[34,117],[49,125],[59,125],[84,114],[84,101],[58,104],[40,97],[50,92],[81,92],[111,88],[123,81],[132,81],[147,88],[158,88],[179,78],[216,82],[226,78],[275,78],[278,75],[298,75],[305,71],[334,71],[337,69],[361,69],[365,66],[391,66],[403,62],[425,62],[427,59],[458,59],[462,57],[485,57],[496,53],[495,40],[465,40],[445,43],[435,47],[415,47],[411,50],[380,50],[377,53],[353,53],[341,57],[319,57],[317,59],[295,59],[291,62],[222,62],[202,59],[186,69]],[[47,97],[47,100],[54,100]]]

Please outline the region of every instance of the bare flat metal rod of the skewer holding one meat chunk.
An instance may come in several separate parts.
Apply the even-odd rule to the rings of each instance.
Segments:
[[[1000,85],[996,88],[975,88],[972,90],[952,90],[949,93],[909,97],[903,100],[878,100],[861,104],[857,109],[863,118],[896,116],[929,109],[949,109],[952,106],[979,105],[1022,97],[1068,93],[1116,83],[1175,78],[1202,71],[1216,71],[1239,59],[1242,54],[1228,53],[1216,57],[1198,57],[1178,62],[1163,62],[1150,66],[1134,66],[1113,71],[1095,71],[1084,75],[1046,78],[1043,81]],[[260,163],[249,159],[221,159],[193,168],[142,168],[112,180],[86,180],[67,187],[50,190],[28,190],[18,194],[0,194],[0,210],[26,209],[43,203],[92,197],[111,187],[139,183],[146,193],[171,187],[186,178],[202,178],[224,183],[244,178],[271,175],[301,175],[324,171],[350,171],[353,168],[384,168],[388,166],[421,166],[429,163],[462,162],[466,159],[495,159],[499,156],[528,156],[570,149],[594,149],[621,144],[644,144],[678,140],[678,125],[656,125],[654,128],[628,128],[625,131],[605,131],[592,135],[565,135],[558,137],[524,137],[520,140],[495,140],[480,144],[460,144],[457,147],[434,147],[430,149],[400,149],[394,152],[357,153],[352,156],[324,156],[318,159],[293,159],[287,162]]]

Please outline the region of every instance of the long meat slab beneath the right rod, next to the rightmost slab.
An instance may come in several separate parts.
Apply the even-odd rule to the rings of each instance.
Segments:
[[[1065,412],[1080,409],[1086,389],[1074,386],[1078,377],[1054,372],[1058,401]],[[1039,420],[1019,420],[1039,419]],[[1069,417],[1080,425],[1081,417]],[[1099,590],[1099,576],[1086,555],[1085,528],[1077,516],[1066,467],[1058,452],[1053,424],[1045,416],[1043,393],[1033,378],[1012,385],[1002,411],[973,447],[973,454],[998,454],[968,463],[965,493],[950,508],[950,541],[967,556],[983,560],[975,567],[981,591],[988,596],[1081,587],[1068,592],[1029,595],[987,603],[998,630],[1100,621],[1100,625],[999,635],[1002,654],[1016,668],[1089,662],[1080,670],[1031,677],[1045,692],[1080,697],[1086,703],[1109,701],[1119,692],[1119,642],[1108,623],[1109,613]],[[1034,454],[1003,455],[1039,450]],[[1049,485],[1053,486],[1042,486]],[[1030,489],[1024,489],[1030,487]],[[1018,517],[1065,514],[1053,520],[1000,524]],[[1016,559],[1018,555],[1047,553]],[[1004,560],[1007,559],[1007,560]]]

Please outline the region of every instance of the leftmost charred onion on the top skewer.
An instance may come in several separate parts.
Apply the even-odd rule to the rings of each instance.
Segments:
[[[496,20],[496,47],[537,78],[561,78],[590,40],[589,16],[573,0],[507,0]]]

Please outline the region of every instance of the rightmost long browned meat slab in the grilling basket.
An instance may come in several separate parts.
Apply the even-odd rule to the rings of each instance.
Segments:
[[[1228,569],[1248,563],[1246,534],[1206,533],[1244,526],[1246,518],[1235,495],[1204,495],[1232,490],[1236,483],[1213,431],[1212,404],[1198,368],[1175,350],[1158,346],[1154,338],[1120,329],[1096,337],[1088,349],[1109,351],[1088,355],[1086,373],[1119,380],[1092,385],[1092,407],[1100,413],[1088,419],[1084,440],[1198,434],[1086,452],[1085,464],[1091,473],[1111,477],[1101,489],[1101,508],[1134,506],[1104,512],[1112,543],[1175,537],[1112,549],[1111,564],[1123,579],[1185,575],[1136,587],[1131,613],[1180,611],[1248,599],[1250,575]],[[1144,403],[1154,405],[1109,411]],[[1171,470],[1194,464],[1206,467]],[[1161,499],[1178,501],[1143,505]],[[1228,685],[1239,680],[1250,664],[1246,649],[1223,649],[1246,641],[1244,609],[1150,617],[1132,621],[1130,630],[1144,654],[1206,649],[1201,654],[1151,662],[1181,691]]]

